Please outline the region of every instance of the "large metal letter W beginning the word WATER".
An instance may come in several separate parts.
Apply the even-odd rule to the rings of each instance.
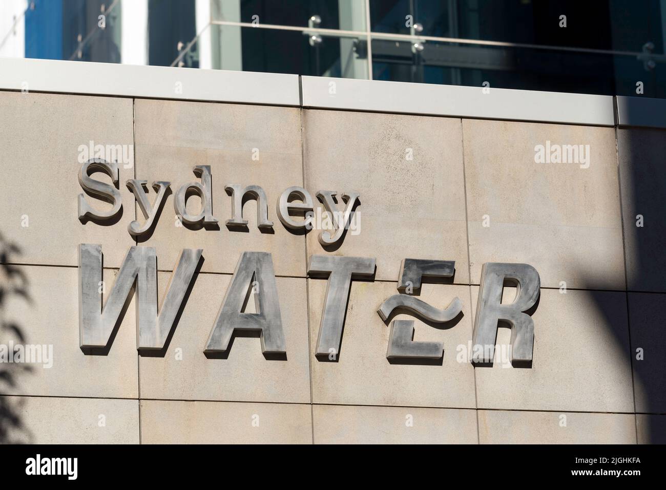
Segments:
[[[122,321],[137,290],[137,349],[161,350],[198,268],[202,250],[184,248],[157,313],[157,255],[153,247],[132,246],[103,305],[101,245],[79,244],[79,340],[81,348],[103,348]],[[135,284],[137,287],[135,288]]]

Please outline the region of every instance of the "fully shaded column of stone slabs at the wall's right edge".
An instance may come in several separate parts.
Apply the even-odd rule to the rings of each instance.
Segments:
[[[666,131],[618,128],[617,149],[637,432],[666,443]]]

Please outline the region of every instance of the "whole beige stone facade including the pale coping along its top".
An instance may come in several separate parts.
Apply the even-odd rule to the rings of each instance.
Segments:
[[[661,101],[67,61],[3,66],[3,441],[666,441]],[[258,187],[242,198],[246,186]],[[294,187],[309,192],[312,214],[298,216],[306,198]],[[282,204],[295,213],[280,212],[286,191]],[[308,216],[311,226],[298,227]],[[86,287],[95,268],[85,244],[103,254],[99,282]],[[157,259],[123,304],[117,286],[128,284],[131,250]],[[200,250],[196,270],[184,250]],[[262,265],[243,262],[248,252]],[[330,294],[335,264],[350,258],[369,262],[355,262],[349,285]],[[418,288],[408,259],[454,264],[449,274],[422,269]],[[480,289],[495,263],[538,274],[524,308],[529,363],[513,362],[509,344],[524,339],[502,322],[491,362],[472,362],[488,306]],[[529,289],[515,286],[503,284],[503,304]],[[236,330],[211,347],[239,292]],[[384,319],[378,310],[394,295],[407,308]],[[460,312],[438,316],[456,298]],[[105,302],[107,330],[89,342],[91,301]],[[143,330],[153,304],[161,320]],[[273,330],[240,320],[276,308],[279,318],[264,319]],[[325,315],[342,326],[333,352],[318,350]],[[405,320],[413,338],[396,326]],[[271,337],[278,324],[280,342]],[[153,334],[161,340],[151,344]],[[423,356],[426,343],[440,351]]]

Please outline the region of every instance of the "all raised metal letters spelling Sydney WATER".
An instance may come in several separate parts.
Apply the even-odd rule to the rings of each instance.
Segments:
[[[91,178],[95,172],[104,172],[113,180],[113,185]],[[212,176],[210,165],[194,166],[194,174],[200,182],[183,184],[173,198],[174,211],[180,221],[194,225],[192,230],[215,228],[218,220],[212,215]],[[119,184],[119,168],[115,162],[89,160],[79,170],[79,183],[87,194],[113,204],[109,211],[97,211],[79,194],[79,220],[87,224],[113,224],[123,206]],[[129,223],[129,233],[139,239],[153,232],[165,200],[170,183],[153,182],[157,197],[151,205],[147,192],[147,180],[129,179],[127,188],[133,192],[143,213],[143,225],[138,220]],[[231,197],[232,218],[226,220],[230,231],[244,231],[248,221],[243,219],[242,208],[246,197],[254,198],[257,206],[257,226],[262,232],[272,233],[273,222],[268,219],[268,198],[257,185],[229,184],[225,186]],[[190,214],[186,209],[188,196],[198,194],[201,210]],[[316,193],[326,212],[332,219],[332,230],[321,230],[318,240],[325,250],[338,250],[344,240],[345,230],[350,226],[352,212],[359,202],[358,192],[340,193],[344,200],[344,211],[337,208],[335,196],[338,192],[320,190]],[[300,202],[299,202],[300,201]],[[294,234],[306,234],[312,230],[314,204],[310,193],[302,187],[288,187],[277,200],[276,214],[284,226]],[[294,220],[292,216],[302,216]],[[317,220],[318,222],[318,220]],[[210,225],[210,226],[208,226]],[[238,230],[242,228],[242,230]],[[324,226],[324,228],[330,228]],[[205,232],[205,231],[201,231]],[[262,241],[262,243],[264,243]],[[309,247],[309,246],[308,246]],[[196,280],[202,264],[202,250],[185,248],[178,256],[171,274],[163,303],[157,304],[157,254],[155,248],[132,246],[121,264],[117,278],[105,296],[100,245],[79,245],[79,336],[85,354],[99,354],[97,348],[109,348],[113,333],[118,328],[127,304],[137,293],[137,349],[140,351],[164,351],[176,318],[188,291]],[[318,360],[337,360],[342,344],[342,332],[347,312],[352,281],[374,280],[375,258],[346,257],[324,254],[311,255],[307,274],[311,278],[326,278],[326,294],[315,346]],[[460,298],[453,298],[442,310],[432,306],[418,296],[422,283],[450,283],[455,274],[453,260],[422,260],[406,258],[400,267],[398,294],[386,298],[377,313],[390,328],[386,358],[388,360],[439,360],[444,356],[442,342],[414,340],[414,320],[394,320],[398,314],[407,314],[429,324],[446,324],[462,316]],[[502,304],[503,286],[509,282],[517,286],[515,300]],[[534,322],[531,312],[539,299],[539,274],[527,264],[500,264],[488,262],[482,269],[479,297],[474,317],[471,360],[477,366],[490,365],[494,358],[497,330],[500,323],[511,326],[510,360],[514,366],[530,366],[534,342]],[[289,294],[289,292],[286,292]],[[246,312],[248,301],[254,301],[256,312]],[[455,326],[455,323],[450,324]],[[236,270],[226,289],[215,322],[210,330],[204,353],[224,354],[228,352],[234,332],[258,332],[264,354],[286,354],[286,341],[282,331],[282,316],[278,300],[278,288],[273,270],[271,254],[267,252],[243,252]],[[153,352],[153,354],[155,353]],[[267,356],[268,357],[268,356]],[[393,362],[393,361],[392,361]]]

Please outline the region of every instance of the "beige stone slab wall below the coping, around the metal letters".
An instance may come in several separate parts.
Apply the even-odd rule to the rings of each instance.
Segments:
[[[53,367],[0,364],[5,441],[666,442],[663,130],[9,91],[0,126],[0,344],[53,346]],[[79,146],[89,141],[134,145],[111,224],[77,218]],[[535,163],[547,141],[589,145],[589,168]],[[170,195],[154,232],[135,242],[127,226],[143,215],[125,181],[175,190],[200,164],[212,170],[219,229],[180,226]],[[257,228],[254,201],[243,208],[248,230],[224,226],[231,183],[262,186],[274,232]],[[288,230],[275,202],[290,186],[360,192],[360,232],[324,250],[318,231]],[[105,355],[79,348],[81,243],[101,244],[105,282],[130,246],[155,247],[160,300],[180,250],[203,249],[163,356],[137,354],[135,300]],[[204,356],[244,251],[272,254],[286,359],[242,334],[226,358]],[[374,280],[352,282],[336,362],[314,356],[326,280],[307,277],[312,254],[376,258]],[[396,294],[404,258],[456,261],[453,280],[424,284],[420,298],[444,308],[458,296],[462,317],[436,328],[414,319],[415,340],[444,342],[441,362],[386,358],[376,310]],[[539,272],[529,368],[458,356],[485,262]],[[500,328],[498,344],[509,338]]]

